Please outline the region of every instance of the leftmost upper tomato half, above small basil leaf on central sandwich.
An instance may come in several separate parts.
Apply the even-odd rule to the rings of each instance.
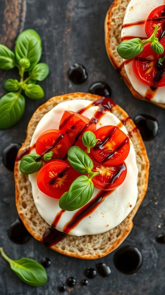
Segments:
[[[70,148],[70,142],[58,129],[43,132],[36,141],[36,153],[42,155],[53,151],[53,157],[64,158]]]

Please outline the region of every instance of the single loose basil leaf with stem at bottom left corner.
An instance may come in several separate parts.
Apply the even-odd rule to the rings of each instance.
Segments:
[[[16,275],[26,284],[33,287],[43,286],[47,280],[47,273],[45,268],[37,261],[30,258],[21,258],[18,260],[10,259],[3,248],[0,248],[2,257],[9,262],[11,269]]]

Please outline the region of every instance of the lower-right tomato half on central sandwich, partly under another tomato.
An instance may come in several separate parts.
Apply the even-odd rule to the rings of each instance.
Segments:
[[[116,189],[123,183],[127,175],[127,167],[125,163],[111,167],[96,162],[93,157],[91,158],[94,165],[92,171],[100,171],[99,175],[92,178],[95,187],[104,191],[110,191]]]

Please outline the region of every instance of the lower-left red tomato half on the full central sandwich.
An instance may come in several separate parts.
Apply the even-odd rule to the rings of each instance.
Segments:
[[[44,165],[37,176],[37,185],[44,194],[55,199],[69,190],[71,183],[81,174],[68,161],[51,160]]]

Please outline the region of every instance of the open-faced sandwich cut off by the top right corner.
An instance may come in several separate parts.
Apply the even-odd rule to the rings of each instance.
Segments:
[[[162,108],[165,108],[164,4],[164,0],[115,0],[105,19],[105,44],[112,65],[135,97]]]

